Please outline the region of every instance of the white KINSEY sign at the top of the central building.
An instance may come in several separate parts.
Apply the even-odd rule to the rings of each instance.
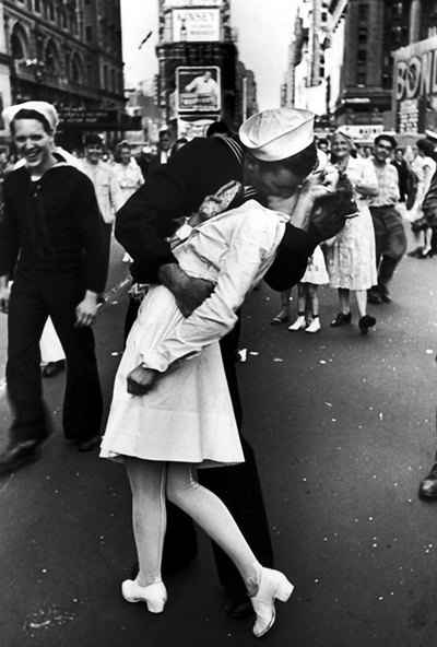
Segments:
[[[218,9],[175,9],[173,40],[220,40]]]

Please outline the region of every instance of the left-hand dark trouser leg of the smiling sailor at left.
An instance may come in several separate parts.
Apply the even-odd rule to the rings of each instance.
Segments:
[[[12,409],[11,444],[44,440],[48,421],[43,403],[39,339],[47,310],[34,279],[16,278],[8,315],[8,397]]]

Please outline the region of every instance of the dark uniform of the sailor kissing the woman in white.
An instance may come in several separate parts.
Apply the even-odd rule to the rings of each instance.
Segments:
[[[185,316],[189,316],[211,293],[208,281],[187,275],[178,266],[166,242],[177,219],[196,212],[205,196],[214,193],[232,179],[244,183],[244,148],[233,137],[194,139],[186,144],[165,166],[147,177],[147,181],[118,212],[116,237],[133,258],[132,275],[139,283],[163,283],[175,295]],[[253,197],[246,191],[246,199]],[[232,203],[231,207],[236,207]],[[308,226],[287,225],[276,260],[265,279],[274,290],[296,283],[307,264],[308,256],[323,238],[334,235],[343,225],[340,213],[330,223],[312,222]],[[292,259],[292,260],[291,260]],[[131,301],[127,330],[137,315],[138,304]],[[221,342],[224,367],[241,428],[241,405],[235,370],[238,325]],[[259,560],[273,563],[269,524],[253,450],[241,436],[246,462],[236,467],[202,470],[200,480],[215,492],[235,516],[243,533]],[[206,473],[208,472],[208,473]],[[191,524],[169,508],[168,530],[164,548],[164,569],[188,561],[196,552]],[[229,599],[228,611],[239,616],[250,609],[243,580],[227,556],[214,545],[218,577]]]

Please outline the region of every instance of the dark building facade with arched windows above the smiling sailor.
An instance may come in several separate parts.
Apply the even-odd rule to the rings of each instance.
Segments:
[[[117,121],[125,105],[119,0],[3,0],[1,5],[10,99],[54,103],[66,128],[93,110],[107,110],[106,121],[108,115]],[[98,129],[104,125],[95,116]]]

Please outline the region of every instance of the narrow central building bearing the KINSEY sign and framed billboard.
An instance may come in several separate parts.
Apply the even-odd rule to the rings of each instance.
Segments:
[[[229,0],[158,0],[157,98],[179,137],[224,119],[236,128],[257,105],[253,73],[238,60]]]

